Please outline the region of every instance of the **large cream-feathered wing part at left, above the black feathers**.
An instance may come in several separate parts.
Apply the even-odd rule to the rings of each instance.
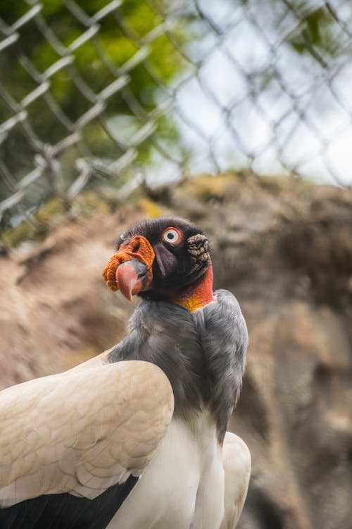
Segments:
[[[172,417],[156,365],[87,365],[0,392],[0,507],[69,492],[94,499],[140,475]]]

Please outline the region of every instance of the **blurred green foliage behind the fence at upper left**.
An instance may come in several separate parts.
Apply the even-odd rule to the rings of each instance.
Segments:
[[[0,18],[12,25],[29,11],[30,4],[36,5],[24,0],[2,1]],[[108,98],[102,116],[104,122],[114,116],[134,116],[135,127],[141,128],[148,121],[148,114],[158,107],[162,95],[161,85],[167,85],[184,68],[180,55],[165,33],[162,32],[153,39],[146,38],[163,23],[160,14],[140,0],[122,1],[117,11],[99,20],[99,31],[94,37],[70,51],[75,40],[92,25],[87,22],[89,18],[94,17],[108,1],[76,0],[75,4],[82,10],[82,16],[72,13],[69,7],[73,3],[64,0],[42,0],[40,4],[42,10],[39,15],[18,30],[18,42],[0,54],[1,85],[17,103],[40,84],[41,76],[62,56],[73,57],[72,63],[49,77],[46,94],[27,107],[28,121],[39,140],[55,145],[72,133],[77,127],[77,120],[94,106],[99,92],[113,83],[121,75],[126,63],[146,47],[148,66],[142,61],[127,68],[126,72],[128,93],[139,107],[140,117],[136,118],[135,109],[131,108],[130,99],[126,97],[123,88]],[[181,39],[187,38],[187,25],[180,25],[176,31]],[[52,35],[57,41],[54,46]],[[0,40],[3,38],[4,35],[1,36],[0,32]],[[59,116],[50,108],[53,101]],[[13,111],[9,111],[8,106],[0,99],[0,123],[12,115]],[[118,138],[122,132],[118,129],[113,131]],[[158,120],[155,133],[170,133],[173,138],[176,134],[170,120],[165,118]],[[109,138],[99,118],[82,127],[82,136],[94,157],[103,157],[112,162],[123,152]],[[16,181],[34,169],[31,140],[18,125],[11,130],[0,149],[15,187]],[[139,145],[139,159],[148,160],[149,149],[150,142],[146,139]],[[86,154],[89,155],[89,151]],[[82,156],[77,152],[75,154]],[[71,176],[77,174],[73,164],[70,166],[67,163],[72,159],[70,154],[61,159],[65,168],[65,181],[68,183]],[[44,197],[49,196],[49,192],[48,184]],[[0,200],[8,194],[8,186],[0,184]]]

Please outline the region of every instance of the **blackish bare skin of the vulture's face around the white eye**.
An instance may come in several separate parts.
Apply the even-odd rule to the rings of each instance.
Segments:
[[[170,227],[180,230],[182,234],[180,243],[171,244],[163,241],[163,231]],[[129,230],[122,233],[118,239],[117,248],[119,249],[122,243],[129,241],[136,235],[144,236],[156,252],[156,259],[153,262],[153,281],[148,291],[139,293],[142,298],[163,299],[164,290],[170,296],[170,293],[180,293],[191,284],[196,286],[208,268],[209,262],[206,261],[202,262],[201,266],[194,271],[194,261],[191,259],[187,241],[192,236],[202,235],[205,237],[205,235],[200,228],[188,221],[177,217],[161,217],[134,224]],[[162,270],[163,265],[158,264],[158,260],[165,263],[164,270]]]

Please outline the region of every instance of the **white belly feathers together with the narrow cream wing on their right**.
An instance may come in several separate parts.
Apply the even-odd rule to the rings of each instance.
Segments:
[[[195,416],[191,425],[172,420],[108,529],[234,529],[250,474],[246,444],[227,432],[219,446],[208,413]]]

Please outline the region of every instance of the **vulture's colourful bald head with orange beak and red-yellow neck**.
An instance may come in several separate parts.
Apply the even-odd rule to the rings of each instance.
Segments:
[[[139,222],[122,233],[117,250],[103,278],[128,300],[137,294],[195,310],[213,299],[208,238],[191,222],[177,217]]]

